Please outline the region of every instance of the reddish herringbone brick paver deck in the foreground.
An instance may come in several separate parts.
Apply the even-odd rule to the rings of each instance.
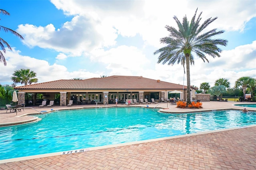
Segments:
[[[228,103],[228,102],[227,102]],[[256,170],[256,126],[0,164],[0,170]]]

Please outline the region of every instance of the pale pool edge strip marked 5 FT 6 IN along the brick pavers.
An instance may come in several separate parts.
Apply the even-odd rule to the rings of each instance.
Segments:
[[[178,136],[169,136],[169,137],[155,138],[155,139],[149,139],[149,140],[140,140],[140,141],[134,141],[134,142],[121,143],[121,144],[112,144],[112,145],[106,145],[106,146],[96,146],[96,147],[92,147],[92,148],[81,148],[81,149],[77,149],[77,150],[85,150],[83,152],[89,152],[91,150],[114,148],[114,147],[119,147],[119,146],[141,144],[141,143],[146,143],[146,142],[155,142],[155,141],[159,141],[159,140],[168,140],[168,139],[174,139],[174,138],[182,138],[182,137],[187,137],[187,136],[195,136],[195,135],[200,135],[200,134],[222,132],[222,131],[234,130],[234,129],[239,129],[239,128],[248,128],[248,127],[256,127],[256,125],[248,125],[248,126],[243,126],[243,127],[234,127],[234,128],[210,130],[210,131],[207,131],[207,132],[197,132],[197,133],[191,133],[191,134],[183,134],[183,135],[178,135]],[[3,160],[0,160],[0,164],[10,163],[10,162],[17,162],[17,161],[22,161],[22,160],[30,160],[30,159],[35,159],[35,158],[44,158],[44,157],[49,157],[49,156],[59,156],[59,155],[64,155],[63,154],[64,152],[65,152],[65,154],[79,153],[79,152],[75,152],[75,150],[67,150],[67,151],[53,152],[53,153],[48,153],[48,154],[39,154],[39,155],[24,156],[24,157],[19,157],[19,158],[3,159]],[[68,153],[66,153],[66,152],[68,152]]]

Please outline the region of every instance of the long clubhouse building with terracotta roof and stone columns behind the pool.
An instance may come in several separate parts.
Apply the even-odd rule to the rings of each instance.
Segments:
[[[118,97],[118,101],[125,99],[140,101],[145,98],[148,101],[151,101],[152,98],[159,101],[162,97],[168,98],[168,93],[174,90],[182,92],[177,95],[186,101],[186,88],[184,85],[142,76],[119,75],[84,80],[56,80],[15,87],[18,90],[18,104],[28,105],[25,101],[26,93],[32,94],[33,100],[30,101],[32,105],[36,105],[37,94],[43,94],[43,100],[49,101],[54,100],[56,94],[59,94],[60,99],[57,103],[60,106],[66,106],[69,100],[73,100],[74,104],[88,104],[92,101],[109,104],[116,97]]]

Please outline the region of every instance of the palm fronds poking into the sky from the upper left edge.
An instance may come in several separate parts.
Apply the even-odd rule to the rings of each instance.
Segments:
[[[2,9],[0,9],[0,14],[10,15],[6,10],[2,10]],[[1,18],[0,18],[0,20],[1,20]],[[21,38],[22,40],[24,40],[24,38],[20,34],[15,32],[14,30],[11,30],[10,28],[6,28],[4,26],[0,26],[0,31],[1,30],[4,30],[4,32],[11,32],[15,36],[17,36],[17,37]],[[0,37],[0,46],[1,46],[2,50],[4,51],[4,53],[6,53],[4,45],[6,45],[10,50],[12,50],[10,45]],[[4,58],[4,54],[1,51],[0,51],[0,62],[1,63],[3,62],[4,65],[6,65],[6,60]]]

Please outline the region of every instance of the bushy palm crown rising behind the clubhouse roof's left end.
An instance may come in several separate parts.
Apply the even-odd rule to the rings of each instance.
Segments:
[[[12,81],[14,83],[21,83],[21,84],[32,84],[37,83],[38,79],[36,77],[36,73],[34,71],[30,71],[30,69],[20,69],[14,71],[12,74],[13,77],[11,77]]]

